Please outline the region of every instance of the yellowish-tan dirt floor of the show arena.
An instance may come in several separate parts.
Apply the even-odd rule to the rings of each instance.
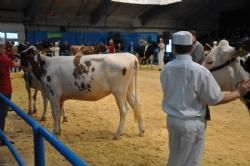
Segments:
[[[14,74],[12,101],[27,111],[27,93],[22,74]],[[143,69],[138,74],[138,93],[142,105],[145,135],[138,136],[137,123],[130,109],[121,140],[112,140],[119,120],[119,112],[113,96],[98,102],[66,101],[65,110],[69,122],[62,123],[58,137],[70,149],[86,160],[90,166],[164,166],[168,155],[166,115],[161,111],[162,92],[159,71]],[[212,121],[206,131],[203,166],[249,166],[250,165],[250,117],[237,100],[229,104],[210,107]],[[39,94],[39,121],[42,99]],[[52,128],[48,109],[47,121],[40,122]],[[7,119],[7,135],[15,141],[15,147],[27,165],[34,165],[33,136],[31,128],[14,112]],[[46,143],[46,165],[70,165]],[[0,147],[0,166],[16,165],[6,147]]]

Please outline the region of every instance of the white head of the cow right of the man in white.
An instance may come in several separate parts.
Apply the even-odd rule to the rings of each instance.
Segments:
[[[236,56],[236,49],[227,40],[221,40],[218,47],[213,48],[206,56],[203,66],[208,69],[225,64]]]

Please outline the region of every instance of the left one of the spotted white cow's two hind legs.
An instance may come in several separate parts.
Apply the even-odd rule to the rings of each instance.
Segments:
[[[118,129],[116,131],[116,134],[114,135],[114,140],[118,140],[120,139],[120,135],[122,133],[122,130],[124,128],[124,123],[125,123],[125,118],[126,118],[126,114],[127,114],[127,109],[126,109],[126,100],[124,95],[114,95],[115,96],[115,100],[116,103],[118,105],[119,111],[120,111],[120,122],[119,122],[119,126]]]

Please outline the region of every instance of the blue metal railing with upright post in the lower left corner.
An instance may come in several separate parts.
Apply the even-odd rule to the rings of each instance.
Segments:
[[[34,134],[34,151],[35,151],[35,166],[44,166],[44,139],[46,139],[59,153],[61,153],[72,165],[87,166],[87,163],[81,160],[75,153],[73,153],[68,147],[60,142],[54,135],[41,127],[39,123],[31,119],[26,113],[24,113],[19,107],[13,104],[8,98],[0,93],[0,100],[6,103],[12,108],[26,123],[28,123]],[[0,131],[0,137],[6,143],[12,155],[16,159],[19,165],[23,166],[25,163],[21,159],[20,155],[16,152],[15,148],[9,142],[8,138]]]

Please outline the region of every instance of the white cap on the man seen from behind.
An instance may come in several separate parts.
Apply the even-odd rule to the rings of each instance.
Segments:
[[[179,31],[173,34],[173,44],[190,46],[193,44],[193,36],[188,31]]]

